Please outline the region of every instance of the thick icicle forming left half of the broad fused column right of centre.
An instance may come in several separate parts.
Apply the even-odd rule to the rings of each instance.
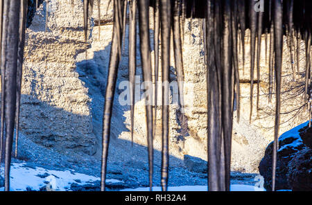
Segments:
[[[218,3],[216,3],[218,4]],[[206,38],[207,38],[207,134],[208,134],[208,188],[216,191],[222,190],[224,183],[223,173],[220,172],[220,166],[223,163],[220,161],[220,137],[221,137],[221,107],[220,107],[220,71],[216,66],[216,58],[214,46],[216,37],[214,15],[214,0],[207,1],[207,21],[206,21]],[[218,15],[219,12],[216,12]],[[217,23],[218,24],[218,23]]]

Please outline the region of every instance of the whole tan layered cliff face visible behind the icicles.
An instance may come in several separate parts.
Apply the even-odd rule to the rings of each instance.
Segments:
[[[21,98],[21,133],[33,142],[60,152],[85,152],[101,155],[101,124],[107,66],[112,36],[112,5],[101,1],[101,26],[94,26],[98,19],[94,7],[89,21],[87,45],[83,35],[83,3],[53,0],[49,6],[48,31],[45,33],[45,4],[36,12],[33,23],[26,31],[25,63]],[[107,12],[106,12],[107,11]],[[153,21],[151,21],[153,22]],[[99,28],[100,27],[100,28]],[[191,30],[189,29],[190,27]],[[179,107],[170,107],[170,152],[183,159],[184,154],[207,160],[207,83],[203,42],[200,39],[200,21],[186,21],[184,25],[184,100],[188,118],[187,134],[182,136]],[[100,30],[101,29],[101,30]],[[100,36],[98,32],[100,31]],[[153,33],[151,25],[150,33]],[[128,28],[126,30],[128,35]],[[285,39],[286,41],[286,39]],[[268,103],[268,58],[261,53],[261,78],[259,112],[254,111],[249,123],[250,73],[249,39],[245,37],[245,69],[240,60],[241,121],[234,118],[232,143],[232,168],[243,172],[257,172],[264,150],[273,137],[275,102]],[[261,43],[265,47],[265,40]],[[85,49],[87,48],[87,55]],[[153,46],[152,46],[153,48]],[[263,49],[264,50],[264,49]],[[302,47],[302,52],[304,48]],[[241,55],[241,48],[239,49]],[[306,121],[302,111],[302,76],[297,82],[291,76],[288,47],[284,46],[282,84],[281,131],[290,130]],[[153,56],[153,51],[152,51]],[[173,55],[171,55],[173,56]],[[139,48],[137,49],[137,75],[141,75]],[[112,137],[130,141],[130,107],[119,104],[119,82],[128,78],[128,42],[123,45],[119,80],[112,116]],[[304,69],[304,59],[300,71]],[[171,77],[174,80],[174,60]],[[162,73],[159,73],[161,79]],[[141,76],[141,80],[142,80]],[[137,83],[139,85],[139,83]],[[159,89],[161,90],[161,89]],[[161,93],[158,94],[160,96]],[[274,99],[274,97],[273,97]],[[135,143],[146,145],[144,100],[135,105]],[[254,110],[256,97],[254,97]],[[160,108],[160,107],[159,107]],[[161,127],[160,109],[157,110],[157,127]],[[292,110],[294,112],[291,112]],[[161,136],[157,133],[155,149],[161,150]],[[111,152],[111,151],[110,151]],[[113,151],[112,151],[113,152]]]

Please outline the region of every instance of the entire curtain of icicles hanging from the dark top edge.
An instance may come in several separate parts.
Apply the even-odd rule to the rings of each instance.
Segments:
[[[150,22],[149,7],[153,7],[154,48],[155,48],[155,81],[159,68],[162,69],[162,82],[169,82],[169,54],[171,31],[173,33],[173,50],[175,69],[179,85],[180,105],[183,103],[183,60],[182,44],[184,39],[184,22],[186,18],[199,18],[202,22],[201,37],[205,44],[205,59],[207,66],[207,96],[208,96],[208,184],[209,190],[229,190],[229,173],[231,159],[232,121],[234,100],[237,105],[239,120],[239,54],[241,46],[244,54],[245,30],[250,29],[250,120],[252,116],[252,97],[254,85],[254,64],[257,67],[257,79],[260,76],[259,59],[261,35],[266,36],[269,50],[269,98],[271,99],[275,84],[275,143],[272,162],[272,190],[275,190],[275,172],[277,160],[277,137],[279,135],[279,114],[281,96],[281,62],[283,35],[287,36],[292,62],[297,59],[297,65],[292,63],[293,78],[299,75],[299,42],[306,46],[305,96],[309,101],[311,82],[311,0],[266,0],[259,1],[263,10],[257,10],[254,0],[110,0],[114,8],[114,28],[112,33],[112,48],[110,52],[107,87],[105,91],[105,107],[103,112],[103,155],[101,172],[101,190],[105,190],[107,170],[107,154],[110,143],[110,121],[117,71],[121,58],[121,45],[127,15],[129,15],[129,81],[135,82],[136,35],[139,32],[140,53],[144,81],[151,82],[152,65],[150,57]],[[84,29],[87,41],[87,22],[89,10],[94,6],[94,0],[84,0]],[[12,139],[15,123],[18,134],[19,100],[21,90],[21,71],[24,51],[25,21],[27,1],[0,0],[1,3],[1,153],[5,156],[5,188],[9,190],[10,160]],[[71,6],[74,1],[70,0]],[[100,0],[98,3],[98,24],[100,25]],[[37,1],[36,1],[37,4]],[[37,6],[37,5],[36,5]],[[108,6],[108,5],[107,5]],[[137,16],[138,15],[138,16]],[[137,20],[138,19],[138,22]],[[137,23],[139,30],[137,31]],[[19,25],[17,27],[16,25]],[[159,44],[159,39],[161,44]],[[241,39],[241,40],[239,40]],[[256,46],[257,43],[257,46]],[[297,46],[295,46],[297,44]],[[159,45],[162,59],[159,62]],[[267,45],[267,43],[266,43]],[[256,51],[257,48],[257,51]],[[295,49],[297,48],[297,49]],[[267,52],[266,52],[267,53]],[[243,62],[245,60],[243,59]],[[244,64],[244,63],[243,63]],[[169,85],[162,87],[162,190],[168,184],[168,100]],[[146,88],[148,89],[148,88]],[[157,102],[157,90],[155,102]],[[234,98],[236,93],[236,98]],[[153,96],[147,96],[152,98]],[[131,135],[133,138],[134,118],[134,86],[130,91]],[[157,106],[157,104],[155,104]],[[257,84],[257,109],[259,106],[259,83]],[[183,109],[183,108],[182,108]],[[310,106],[309,106],[310,109]],[[154,109],[155,111],[156,109]],[[310,112],[311,113],[311,112]],[[16,116],[16,118],[15,118]],[[310,116],[309,116],[310,118]],[[15,121],[16,120],[16,121]],[[148,141],[149,185],[153,186],[153,136],[155,135],[155,112],[153,105],[146,105],[146,126]],[[186,118],[182,118],[186,121]],[[5,124],[5,125],[4,125]],[[6,132],[4,132],[4,127]],[[4,136],[5,133],[6,135]],[[16,137],[16,139],[18,139]],[[17,145],[17,142],[16,142]],[[3,148],[3,149],[2,149]],[[17,153],[17,148],[15,150]]]

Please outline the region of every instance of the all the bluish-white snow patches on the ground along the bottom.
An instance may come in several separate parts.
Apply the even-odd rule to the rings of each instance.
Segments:
[[[3,170],[2,170],[3,171]],[[26,163],[12,163],[10,171],[10,190],[70,190],[71,184],[84,185],[100,180],[99,177],[73,172],[73,170],[47,170],[40,167],[27,166]],[[123,183],[117,179],[107,179],[106,183]],[[3,187],[0,188],[3,190]],[[121,191],[148,191],[148,187],[127,188]],[[159,186],[153,190],[159,191]],[[171,186],[169,191],[207,191],[207,186]],[[232,191],[264,191],[264,188],[243,184],[232,184]]]

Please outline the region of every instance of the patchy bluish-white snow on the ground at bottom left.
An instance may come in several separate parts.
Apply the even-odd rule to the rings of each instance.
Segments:
[[[10,170],[10,190],[69,190],[71,184],[84,185],[92,181],[100,180],[99,177],[92,177],[85,174],[65,170],[46,170],[44,168],[31,168],[26,163],[12,163]],[[107,179],[106,183],[122,183],[117,179]],[[50,185],[50,186],[49,186]],[[0,188],[3,190],[3,187]]]

